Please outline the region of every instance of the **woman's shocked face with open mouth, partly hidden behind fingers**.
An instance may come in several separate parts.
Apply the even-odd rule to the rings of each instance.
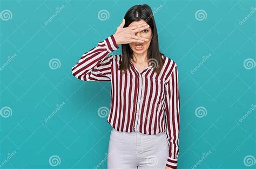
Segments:
[[[134,26],[134,25],[139,25],[139,24],[145,24],[146,22],[144,20],[139,20],[139,21],[134,21],[132,22],[129,26]],[[147,38],[149,41],[144,41],[144,43],[129,43],[133,53],[136,54],[142,54],[147,51],[147,49],[150,46],[151,38],[152,38],[152,31],[151,27],[135,33],[136,36],[142,37],[142,38]]]

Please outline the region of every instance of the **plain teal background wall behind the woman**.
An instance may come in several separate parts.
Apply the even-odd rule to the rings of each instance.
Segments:
[[[55,155],[60,159],[55,168],[106,168],[110,82],[80,81],[71,67],[116,31],[131,6],[144,3],[158,9],[154,17],[160,51],[178,65],[178,168],[256,167],[256,11],[239,24],[256,7],[255,1],[0,3],[0,11],[12,13],[9,20],[0,19],[0,66],[5,65],[0,71],[0,164],[10,158],[2,168],[53,168],[49,158]],[[204,20],[195,16],[200,9],[207,13]],[[98,17],[100,10],[109,12],[107,19]],[[49,66],[54,58],[56,69]],[[250,58],[248,68],[244,62]],[[204,110],[197,112],[200,107]]]

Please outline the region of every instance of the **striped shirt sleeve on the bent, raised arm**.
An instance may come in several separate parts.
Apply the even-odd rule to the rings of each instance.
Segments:
[[[109,53],[118,48],[113,35],[100,41],[72,67],[73,76],[83,81],[110,81],[113,55]]]

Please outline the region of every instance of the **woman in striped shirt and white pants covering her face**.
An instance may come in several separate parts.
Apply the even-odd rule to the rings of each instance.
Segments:
[[[119,44],[122,54],[110,55]],[[132,6],[116,33],[86,52],[72,74],[84,81],[111,81],[108,168],[177,168],[177,65],[159,52],[149,5]]]

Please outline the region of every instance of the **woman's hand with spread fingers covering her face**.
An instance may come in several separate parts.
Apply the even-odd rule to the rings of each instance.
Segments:
[[[138,37],[135,33],[143,31],[149,27],[148,24],[139,24],[135,26],[124,27],[125,19],[123,19],[122,23],[117,27],[116,33],[113,34],[114,39],[117,44],[129,44],[129,43],[144,43],[144,41],[148,41],[149,39]]]

